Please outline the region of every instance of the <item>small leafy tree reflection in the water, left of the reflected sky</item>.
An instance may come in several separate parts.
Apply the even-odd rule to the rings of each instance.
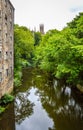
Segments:
[[[29,93],[18,93],[15,100],[15,120],[20,124],[33,113],[34,104],[28,100]]]

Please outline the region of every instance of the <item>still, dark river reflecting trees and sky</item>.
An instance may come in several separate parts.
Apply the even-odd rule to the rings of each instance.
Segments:
[[[0,130],[83,130],[83,95],[38,69],[25,69]]]

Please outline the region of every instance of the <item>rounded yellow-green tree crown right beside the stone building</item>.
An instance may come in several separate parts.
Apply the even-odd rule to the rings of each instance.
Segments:
[[[30,60],[34,49],[34,39],[30,30],[26,27],[16,25],[14,29],[14,42],[15,58]],[[15,65],[18,62],[15,62]]]

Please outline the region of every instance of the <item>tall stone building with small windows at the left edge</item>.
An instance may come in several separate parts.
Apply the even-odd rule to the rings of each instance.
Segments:
[[[13,90],[14,7],[10,0],[0,0],[0,98]]]

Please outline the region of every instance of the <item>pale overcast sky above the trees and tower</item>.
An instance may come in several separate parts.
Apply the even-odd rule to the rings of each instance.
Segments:
[[[62,30],[66,23],[83,12],[83,0],[10,0],[15,8],[15,24],[30,30],[39,30],[44,24],[45,32]]]

